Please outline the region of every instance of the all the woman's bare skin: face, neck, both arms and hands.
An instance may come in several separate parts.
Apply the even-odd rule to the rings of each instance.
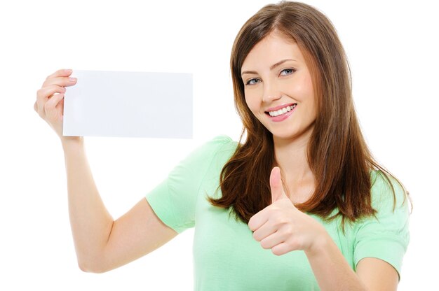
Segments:
[[[262,248],[271,248],[276,255],[304,250],[322,290],[396,290],[398,274],[391,265],[367,257],[358,263],[355,274],[324,227],[292,203],[292,199],[306,201],[313,190],[313,177],[305,159],[316,116],[310,90],[312,82],[293,43],[273,35],[261,44],[253,48],[244,62],[243,69],[257,71],[255,77],[261,81],[253,89],[246,87],[246,99],[261,120],[266,117],[265,106],[291,100],[298,104],[288,125],[287,122],[273,125],[267,120],[263,123],[273,133],[278,165],[286,176],[300,178],[287,179],[288,191],[285,191],[279,169],[273,169],[270,177],[273,202],[249,222],[254,238],[261,242]],[[259,57],[258,62],[253,57]],[[285,57],[296,61],[267,69]],[[300,73],[284,71],[281,75],[284,66],[294,67]],[[147,255],[177,236],[177,232],[161,222],[146,199],[141,199],[117,220],[108,213],[93,180],[83,138],[62,136],[64,94],[66,87],[77,81],[69,78],[71,74],[71,70],[62,69],[48,76],[37,91],[34,110],[59,136],[65,153],[69,217],[79,267],[101,273]],[[245,80],[249,77],[244,76]],[[278,235],[273,235],[276,231]]]

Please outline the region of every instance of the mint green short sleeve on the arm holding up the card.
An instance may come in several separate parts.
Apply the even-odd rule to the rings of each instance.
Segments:
[[[175,232],[180,234],[194,227],[196,201],[203,178],[217,152],[231,142],[228,136],[217,136],[203,144],[146,195],[154,213]]]

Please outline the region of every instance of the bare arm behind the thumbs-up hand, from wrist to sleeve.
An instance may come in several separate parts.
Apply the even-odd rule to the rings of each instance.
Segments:
[[[354,273],[328,234],[320,245],[305,254],[321,290],[396,290],[398,287],[398,273],[383,260],[366,257],[360,260]]]

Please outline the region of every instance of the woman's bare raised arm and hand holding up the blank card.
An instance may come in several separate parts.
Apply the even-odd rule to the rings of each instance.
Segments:
[[[69,217],[76,256],[83,271],[103,272],[142,257],[177,235],[141,199],[118,220],[105,208],[88,165],[83,138],[62,136],[65,87],[72,71],[48,76],[37,92],[34,109],[60,137],[65,153]]]

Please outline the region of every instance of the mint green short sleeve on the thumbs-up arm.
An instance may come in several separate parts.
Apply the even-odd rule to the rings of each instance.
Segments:
[[[355,267],[364,257],[376,257],[391,264],[400,278],[403,256],[410,241],[409,199],[403,187],[391,178],[395,189],[396,204],[393,211],[393,193],[389,182],[372,173],[372,207],[377,210],[377,218],[362,220],[356,227],[353,249]]]

